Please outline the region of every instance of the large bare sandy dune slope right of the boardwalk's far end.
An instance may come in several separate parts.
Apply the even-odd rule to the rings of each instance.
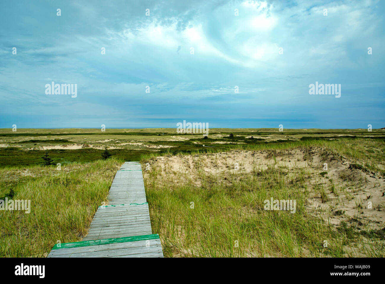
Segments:
[[[385,177],[380,173],[362,172],[352,169],[348,159],[336,156],[330,150],[318,147],[292,150],[233,150],[214,154],[187,156],[161,156],[149,161],[151,169],[158,172],[158,179],[167,181],[170,186],[189,176],[196,186],[201,186],[201,176],[237,175],[263,171],[268,167],[283,167],[295,174],[306,169],[308,179],[304,181],[310,191],[306,210],[320,216],[333,225],[341,221],[359,220],[359,228],[382,229],[385,224]],[[327,163],[326,174],[324,163]],[[144,178],[149,174],[143,171]],[[336,188],[330,190],[331,185]],[[326,197],[321,198],[313,189],[325,188]],[[256,189],[257,190],[257,189]]]

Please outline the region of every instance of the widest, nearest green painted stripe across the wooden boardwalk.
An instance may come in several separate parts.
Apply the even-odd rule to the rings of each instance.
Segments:
[[[141,235],[141,236],[132,236],[132,237],[124,237],[124,238],[105,238],[102,240],[91,240],[91,241],[81,241],[81,242],[73,242],[73,243],[62,243],[60,247],[58,247],[58,243],[54,245],[53,250],[57,249],[70,249],[73,247],[88,247],[90,245],[107,245],[109,243],[125,243],[125,242],[136,242],[143,240],[154,240],[159,238],[158,234],[151,235]]]

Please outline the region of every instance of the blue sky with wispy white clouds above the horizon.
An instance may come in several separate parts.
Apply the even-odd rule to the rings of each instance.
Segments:
[[[0,128],[382,128],[384,12],[375,0],[5,1]],[[76,97],[47,94],[52,81]],[[316,82],[341,96],[310,94]]]

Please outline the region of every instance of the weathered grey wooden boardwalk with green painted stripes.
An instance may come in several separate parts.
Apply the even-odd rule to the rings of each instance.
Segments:
[[[122,165],[107,200],[81,242],[56,244],[48,257],[163,257],[159,235],[152,234],[139,162]]]

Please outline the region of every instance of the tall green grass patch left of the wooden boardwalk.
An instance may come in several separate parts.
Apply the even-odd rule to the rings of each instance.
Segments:
[[[0,198],[31,200],[30,213],[0,211],[0,256],[44,257],[58,241],[79,241],[120,165],[121,161],[108,159],[73,163],[60,171],[42,166],[0,169]]]

